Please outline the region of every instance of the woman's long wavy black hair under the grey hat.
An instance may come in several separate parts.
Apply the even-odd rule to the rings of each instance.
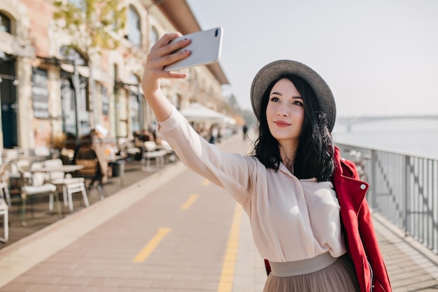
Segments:
[[[260,106],[259,137],[255,141],[254,155],[262,164],[278,170],[281,162],[278,141],[269,131],[266,109],[269,94],[275,83],[286,78],[290,80],[301,94],[304,101],[304,121],[299,136],[297,152],[293,162],[293,172],[298,179],[330,181],[334,171],[332,134],[327,125],[325,113],[320,109],[313,89],[302,78],[294,75],[282,75],[272,81],[262,96]]]

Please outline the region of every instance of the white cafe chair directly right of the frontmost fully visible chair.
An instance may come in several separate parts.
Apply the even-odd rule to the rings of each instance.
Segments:
[[[49,159],[44,161],[45,167],[62,166],[62,160]],[[68,177],[64,172],[48,172],[48,181],[55,186],[62,187],[64,205],[69,206],[70,211],[73,211],[73,193],[82,193],[85,207],[90,206],[85,189],[85,179],[83,177]]]

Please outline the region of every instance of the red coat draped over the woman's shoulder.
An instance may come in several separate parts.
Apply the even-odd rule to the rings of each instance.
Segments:
[[[341,224],[360,291],[391,292],[393,290],[388,272],[374,233],[371,212],[365,200],[369,185],[359,180],[358,169],[353,162],[341,158],[337,147],[334,150],[334,165],[333,185],[341,206]],[[265,260],[264,263],[269,274],[269,262]]]

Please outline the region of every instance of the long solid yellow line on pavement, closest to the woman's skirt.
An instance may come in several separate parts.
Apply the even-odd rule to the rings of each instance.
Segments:
[[[242,207],[236,204],[233,221],[229,230],[227,250],[222,264],[218,292],[231,292],[233,289],[234,269],[236,267],[237,251],[239,248],[239,232]]]

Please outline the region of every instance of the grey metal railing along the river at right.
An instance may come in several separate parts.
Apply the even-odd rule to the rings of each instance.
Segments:
[[[369,206],[438,253],[438,159],[336,144],[369,182]]]

